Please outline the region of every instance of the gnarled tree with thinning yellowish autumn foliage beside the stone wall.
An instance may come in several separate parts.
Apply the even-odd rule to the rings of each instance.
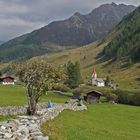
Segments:
[[[55,68],[43,61],[28,61],[13,67],[20,80],[26,84],[28,99],[28,115],[34,115],[37,111],[37,103],[40,97],[48,90],[65,79],[62,69]]]

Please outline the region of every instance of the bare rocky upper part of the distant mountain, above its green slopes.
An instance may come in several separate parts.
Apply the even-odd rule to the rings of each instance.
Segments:
[[[122,18],[135,9],[123,4],[105,4],[87,15],[75,13],[69,19],[52,22],[32,32],[25,44],[47,42],[61,46],[85,45],[105,36]]]

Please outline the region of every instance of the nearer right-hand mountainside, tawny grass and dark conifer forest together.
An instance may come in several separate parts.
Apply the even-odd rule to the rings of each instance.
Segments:
[[[140,7],[125,16],[102,41],[33,59],[55,66],[78,61],[86,82],[95,67],[98,77],[110,76],[120,88],[140,91]],[[128,65],[130,62],[133,64]]]

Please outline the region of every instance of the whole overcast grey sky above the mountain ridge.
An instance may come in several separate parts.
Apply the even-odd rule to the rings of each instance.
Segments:
[[[7,41],[29,33],[75,12],[87,14],[112,2],[140,5],[140,0],[0,0],[0,40]]]

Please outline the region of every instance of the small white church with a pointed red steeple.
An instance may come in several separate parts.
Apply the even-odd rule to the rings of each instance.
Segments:
[[[97,87],[104,87],[105,81],[102,78],[97,78],[96,69],[93,69],[92,72],[92,85]]]

